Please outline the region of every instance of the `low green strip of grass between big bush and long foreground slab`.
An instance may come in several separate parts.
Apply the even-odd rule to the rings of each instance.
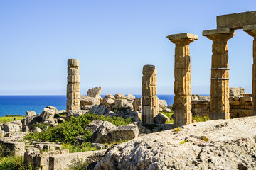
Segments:
[[[92,147],[92,144],[90,142],[82,143],[82,145],[63,144],[62,148],[63,149],[68,149],[70,153],[97,150],[96,147]]]

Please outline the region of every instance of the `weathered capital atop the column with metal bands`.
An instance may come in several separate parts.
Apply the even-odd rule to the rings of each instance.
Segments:
[[[203,36],[216,41],[228,41],[230,38],[233,38],[235,35],[235,30],[231,30],[230,28],[218,28],[215,30],[204,30]]]

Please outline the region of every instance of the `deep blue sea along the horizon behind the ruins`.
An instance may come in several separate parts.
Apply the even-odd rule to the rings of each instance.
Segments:
[[[104,98],[105,95],[102,95]],[[142,95],[134,95],[142,98]],[[166,100],[168,106],[174,103],[174,95],[156,95]],[[58,110],[66,109],[66,96],[0,96],[0,116],[26,115],[26,111],[42,113],[46,106],[55,106]]]

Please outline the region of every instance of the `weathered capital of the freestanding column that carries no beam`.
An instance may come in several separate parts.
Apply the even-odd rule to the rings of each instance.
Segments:
[[[176,45],[189,45],[194,40],[198,40],[198,35],[194,35],[191,33],[179,33],[168,35],[166,38],[168,38]]]

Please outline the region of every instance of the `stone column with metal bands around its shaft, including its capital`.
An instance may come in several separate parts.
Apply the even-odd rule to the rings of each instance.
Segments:
[[[230,28],[205,30],[203,36],[213,40],[210,80],[210,120],[229,119],[228,40],[235,35]]]

